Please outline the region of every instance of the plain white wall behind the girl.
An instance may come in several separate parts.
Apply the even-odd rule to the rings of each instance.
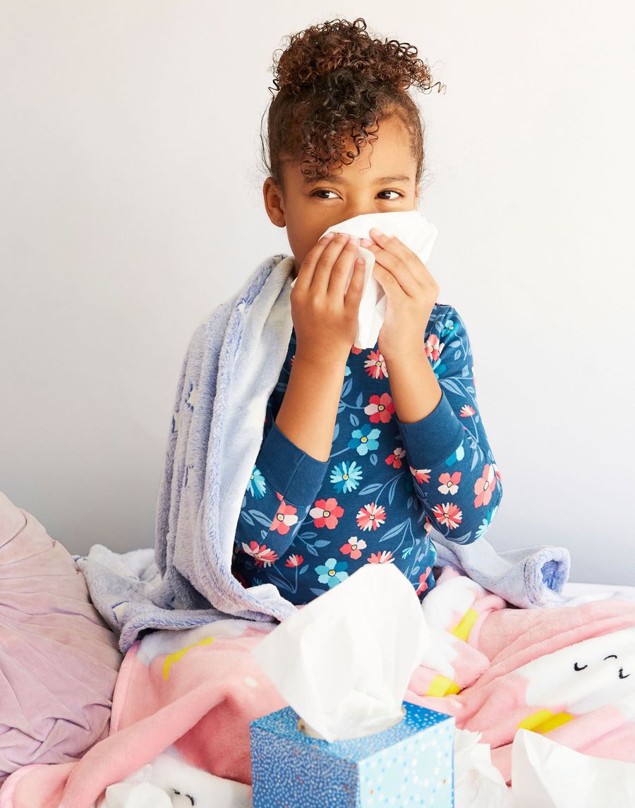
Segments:
[[[73,553],[153,544],[190,335],[289,252],[261,191],[272,53],[338,16],[447,85],[416,96],[421,209],[503,475],[488,539],[635,583],[628,0],[0,0],[0,490]]]

